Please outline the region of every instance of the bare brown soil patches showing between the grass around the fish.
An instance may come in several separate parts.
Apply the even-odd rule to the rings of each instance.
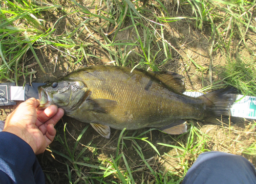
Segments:
[[[85,4],[89,3],[90,2],[87,2]],[[97,3],[99,2],[96,1],[95,4]],[[95,7],[91,7],[91,10],[95,10]],[[174,5],[171,4],[168,6],[168,10],[170,12],[176,12]],[[184,12],[179,11],[178,15],[174,16],[183,15],[183,13]],[[60,16],[62,16],[62,14],[59,10],[56,11],[55,13],[45,14],[43,16],[45,19],[50,20],[47,23],[51,25]],[[67,24],[72,24],[69,18],[61,19],[61,21],[59,21],[56,25],[57,31],[55,34],[61,34],[63,31],[65,31],[65,29],[67,29],[68,31],[72,31],[73,28],[66,27]],[[187,62],[189,62],[188,56],[195,60],[197,64],[201,65],[202,67],[208,67],[210,62],[212,62],[213,66],[225,65],[225,62],[221,60],[221,56],[217,55],[214,56],[213,60],[210,59],[210,44],[208,43],[210,37],[210,30],[207,30],[207,26],[205,28],[206,29],[202,32],[196,28],[191,27],[191,25],[189,25],[186,21],[181,20],[179,22],[172,22],[166,24],[166,29],[164,30],[164,35],[166,37],[165,39],[173,45],[173,48],[171,49],[173,59],[172,61],[168,61],[167,64],[161,67],[160,69],[163,71],[174,71],[176,73],[184,75],[187,90],[200,90],[204,86],[210,85],[211,80],[215,81],[219,77],[215,72],[216,68],[213,68],[211,76],[209,75],[208,70],[205,70],[202,76],[202,72],[199,71],[195,65],[191,64],[191,62],[189,65],[187,64]],[[109,30],[112,29],[113,28],[111,27],[109,28]],[[106,30],[106,28],[104,29],[105,32],[108,32],[109,30]],[[128,32],[129,34],[127,34]],[[127,35],[129,36],[128,38]],[[100,38],[99,34],[97,36]],[[131,39],[132,37],[136,37],[136,34],[134,30],[130,29],[122,32],[120,31],[116,35],[115,39],[127,40]],[[86,36],[83,35],[80,37],[81,40],[83,40],[83,38],[86,38]],[[112,39],[113,35],[109,38]],[[88,38],[86,41],[90,42],[91,40],[90,38]],[[252,46],[255,47],[255,45]],[[48,83],[54,82],[57,80],[57,78],[64,76],[67,73],[74,71],[78,68],[110,62],[109,57],[105,54],[104,51],[102,51],[101,48],[99,49],[99,45],[97,45],[95,42],[93,42],[93,46],[89,46],[88,49],[91,49],[91,52],[94,55],[99,56],[102,59],[89,57],[88,60],[84,59],[83,61],[74,64],[73,61],[75,61],[75,59],[73,57],[64,57],[64,54],[62,54],[62,52],[60,52],[59,50],[52,48],[50,46],[44,46],[40,48],[38,47],[38,49],[36,50],[36,54],[39,60],[41,61],[41,64],[44,67],[46,73],[42,72],[39,66],[36,64],[37,62],[34,59],[32,52],[27,52],[23,64],[25,68],[26,66],[29,66],[29,71],[32,71],[32,69],[37,71],[36,74],[32,76],[32,82]],[[132,60],[138,59],[136,55],[131,55],[130,57]],[[162,58],[157,58],[156,62],[162,62]],[[24,81],[24,77],[20,77],[19,85],[23,85]],[[30,83],[29,77],[26,77],[26,83]],[[20,102],[17,102],[17,105],[18,103]],[[7,115],[11,113],[17,107],[17,105],[9,107],[0,107],[0,119],[5,120]],[[64,133],[63,128],[65,127],[66,123],[67,130]],[[242,154],[241,148],[246,147],[250,145],[253,141],[255,141],[254,137],[250,137],[248,139],[249,133],[245,133],[245,130],[247,128],[246,125],[248,125],[248,123],[244,123],[242,125],[235,125],[234,129],[231,130],[216,125],[204,125],[202,123],[199,123],[196,126],[198,128],[201,128],[201,131],[203,133],[212,137],[212,140],[207,142],[208,148],[210,150],[219,150],[234,154]],[[57,137],[58,139],[61,138],[61,140],[65,141],[64,134],[66,134],[67,145],[69,146],[70,150],[73,151],[76,139],[82,132],[83,128],[86,126],[88,126],[88,124],[79,122],[65,115],[63,116],[61,121],[58,122],[58,124],[56,125]],[[147,129],[126,131],[125,137],[129,137],[134,134],[140,135],[145,130]],[[100,163],[102,163],[105,166],[109,166],[110,164],[108,162],[103,161],[111,161],[111,156],[115,158],[120,133],[120,130],[111,129],[110,139],[105,139],[101,137],[91,126],[89,126],[84,135],[81,137],[81,140],[77,145],[77,148],[75,149],[74,155],[78,155],[80,151],[86,147],[84,145],[87,145],[87,149],[82,153],[77,162],[83,162],[92,165],[99,165]],[[182,166],[178,164],[179,161],[177,162],[178,159],[166,156],[167,154],[177,155],[176,150],[170,147],[161,146],[157,144],[164,143],[178,146],[177,142],[174,141],[174,139],[176,139],[178,136],[170,136],[163,134],[158,130],[152,130],[151,132],[148,132],[145,135],[143,135],[143,137],[147,137],[148,140],[152,142],[154,146],[156,146],[161,155],[159,156],[157,152],[152,148],[152,146],[150,146],[145,141],[136,141],[142,149],[145,160],[147,160],[147,162],[151,165],[151,167],[154,170],[161,170],[163,173],[166,173],[166,171],[182,172]],[[186,135],[180,139],[186,142]],[[222,144],[220,144],[220,142]],[[120,144],[120,147],[124,146],[123,153],[126,156],[130,168],[133,170],[137,169],[137,172],[133,173],[135,181],[137,183],[141,183],[142,179],[144,179],[144,182],[148,181],[148,183],[151,183],[153,175],[142,162],[141,157],[138,155],[135,148],[133,147],[134,144],[136,143],[134,143],[131,140],[123,140],[123,144]],[[44,173],[46,174],[46,183],[69,183],[67,165],[69,166],[69,169],[72,172],[72,179],[75,181],[77,179],[77,175],[75,174],[76,169],[74,168],[74,165],[72,165],[71,162],[65,159],[64,157],[60,156],[59,154],[51,150],[56,150],[65,155],[69,155],[69,153],[67,152],[67,148],[65,149],[63,145],[56,139],[50,145],[50,149],[45,151],[43,154],[37,155],[42,170],[44,170]],[[256,165],[256,158],[254,156],[250,156],[247,154],[242,155],[247,157],[247,159],[249,159],[250,162]],[[189,165],[193,164],[194,160],[189,159],[190,157],[188,155],[187,160],[189,162]],[[124,163],[120,163],[119,166],[121,171],[122,168],[125,168]],[[91,175],[92,178],[97,176],[97,174],[92,175],[90,173],[92,170],[89,167],[84,166],[81,167],[80,169],[83,175],[85,176]],[[94,170],[95,173],[99,171]],[[94,181],[94,183],[100,183],[99,181],[97,181],[97,179],[92,180]],[[113,176],[108,176],[104,179],[106,183],[110,182],[110,180],[116,180],[117,183],[120,182],[117,178],[113,178]]]

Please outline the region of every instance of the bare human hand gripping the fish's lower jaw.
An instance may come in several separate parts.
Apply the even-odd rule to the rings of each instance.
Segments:
[[[9,132],[26,141],[35,154],[45,151],[56,135],[54,126],[63,116],[63,109],[51,105],[36,111],[39,100],[30,98],[8,115],[3,132]]]

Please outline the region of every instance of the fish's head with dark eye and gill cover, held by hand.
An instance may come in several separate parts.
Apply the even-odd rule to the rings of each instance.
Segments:
[[[72,113],[88,97],[89,89],[81,81],[57,81],[39,86],[39,106],[45,109],[51,104]]]

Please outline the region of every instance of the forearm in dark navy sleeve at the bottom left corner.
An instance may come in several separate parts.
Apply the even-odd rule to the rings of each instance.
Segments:
[[[0,133],[0,183],[45,183],[33,149],[8,132]]]

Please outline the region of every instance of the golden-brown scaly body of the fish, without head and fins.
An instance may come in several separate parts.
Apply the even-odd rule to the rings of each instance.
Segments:
[[[105,69],[105,71],[104,71]],[[116,71],[116,67],[102,67],[98,70],[92,68],[91,71],[80,72],[79,77],[70,75],[73,80],[84,81],[92,91],[93,99],[106,98],[117,101],[117,107],[112,109],[106,118],[105,114],[89,112],[84,116],[84,112],[79,109],[74,112],[74,117],[88,122],[97,122],[105,125],[111,123],[115,129],[137,129],[138,125],[147,122],[146,127],[162,126],[181,118],[200,119],[199,112],[191,111],[194,104],[202,104],[200,99],[191,99],[183,94],[177,95],[166,89],[159,81],[152,80],[151,77],[144,75],[144,72],[135,70],[131,73],[130,68]],[[82,71],[82,70],[81,70]],[[151,87],[145,90],[148,83],[152,82]],[[203,111],[203,107],[197,109]],[[182,112],[182,113],[181,113]],[[78,114],[82,114],[80,117]],[[91,114],[91,116],[90,116]],[[100,120],[95,120],[102,116]],[[89,118],[91,117],[91,118]],[[143,124],[145,127],[145,124]]]

